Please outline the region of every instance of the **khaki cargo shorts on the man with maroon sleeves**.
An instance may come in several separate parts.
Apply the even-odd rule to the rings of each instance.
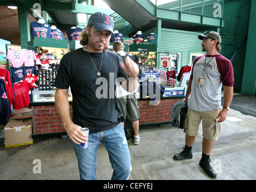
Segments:
[[[185,121],[185,132],[189,136],[197,136],[198,128],[202,120],[203,137],[215,142],[218,140],[221,124],[217,122],[219,109],[210,112],[197,112],[190,108],[187,109],[187,118]]]

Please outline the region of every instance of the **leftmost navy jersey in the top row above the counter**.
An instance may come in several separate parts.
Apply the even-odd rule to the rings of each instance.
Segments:
[[[48,23],[31,22],[32,38],[45,37],[50,38],[50,25]]]

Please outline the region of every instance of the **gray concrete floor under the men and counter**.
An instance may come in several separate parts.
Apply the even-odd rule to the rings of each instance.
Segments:
[[[216,179],[256,179],[256,117],[230,109],[228,119],[221,126],[219,140],[214,143],[210,155],[212,166],[218,173]],[[141,127],[139,134],[139,145],[128,141],[133,167],[130,180],[212,179],[198,164],[203,139],[201,132],[192,149],[194,157],[183,161],[172,158],[185,144],[183,130],[171,127],[171,124],[148,125]],[[0,158],[0,179],[79,179],[70,139],[37,137],[34,144],[16,148],[4,148],[4,139],[0,139]],[[38,160],[41,173],[34,173],[33,169],[39,170],[35,169]],[[100,145],[97,178],[111,179],[111,175],[108,154]]]

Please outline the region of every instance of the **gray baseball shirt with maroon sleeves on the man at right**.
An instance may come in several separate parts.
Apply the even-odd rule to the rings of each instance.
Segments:
[[[221,108],[222,85],[234,85],[234,68],[231,61],[221,54],[203,55],[195,59],[190,79],[188,107],[208,112]]]

